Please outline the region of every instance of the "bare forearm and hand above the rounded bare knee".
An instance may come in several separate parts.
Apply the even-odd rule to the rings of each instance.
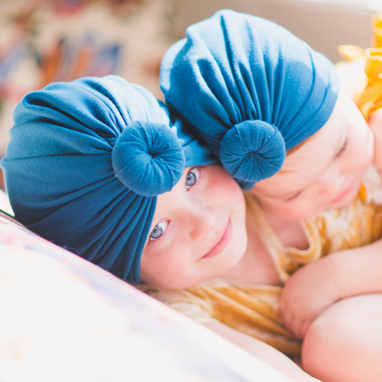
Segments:
[[[382,292],[381,272],[382,239],[303,266],[292,275],[281,294],[284,324],[303,338],[310,324],[336,301]]]

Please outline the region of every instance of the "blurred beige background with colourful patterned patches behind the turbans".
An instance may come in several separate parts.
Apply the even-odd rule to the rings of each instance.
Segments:
[[[223,8],[275,21],[337,62],[338,45],[369,46],[382,0],[0,0],[0,157],[17,102],[52,81],[118,74],[162,99],[163,53]]]

